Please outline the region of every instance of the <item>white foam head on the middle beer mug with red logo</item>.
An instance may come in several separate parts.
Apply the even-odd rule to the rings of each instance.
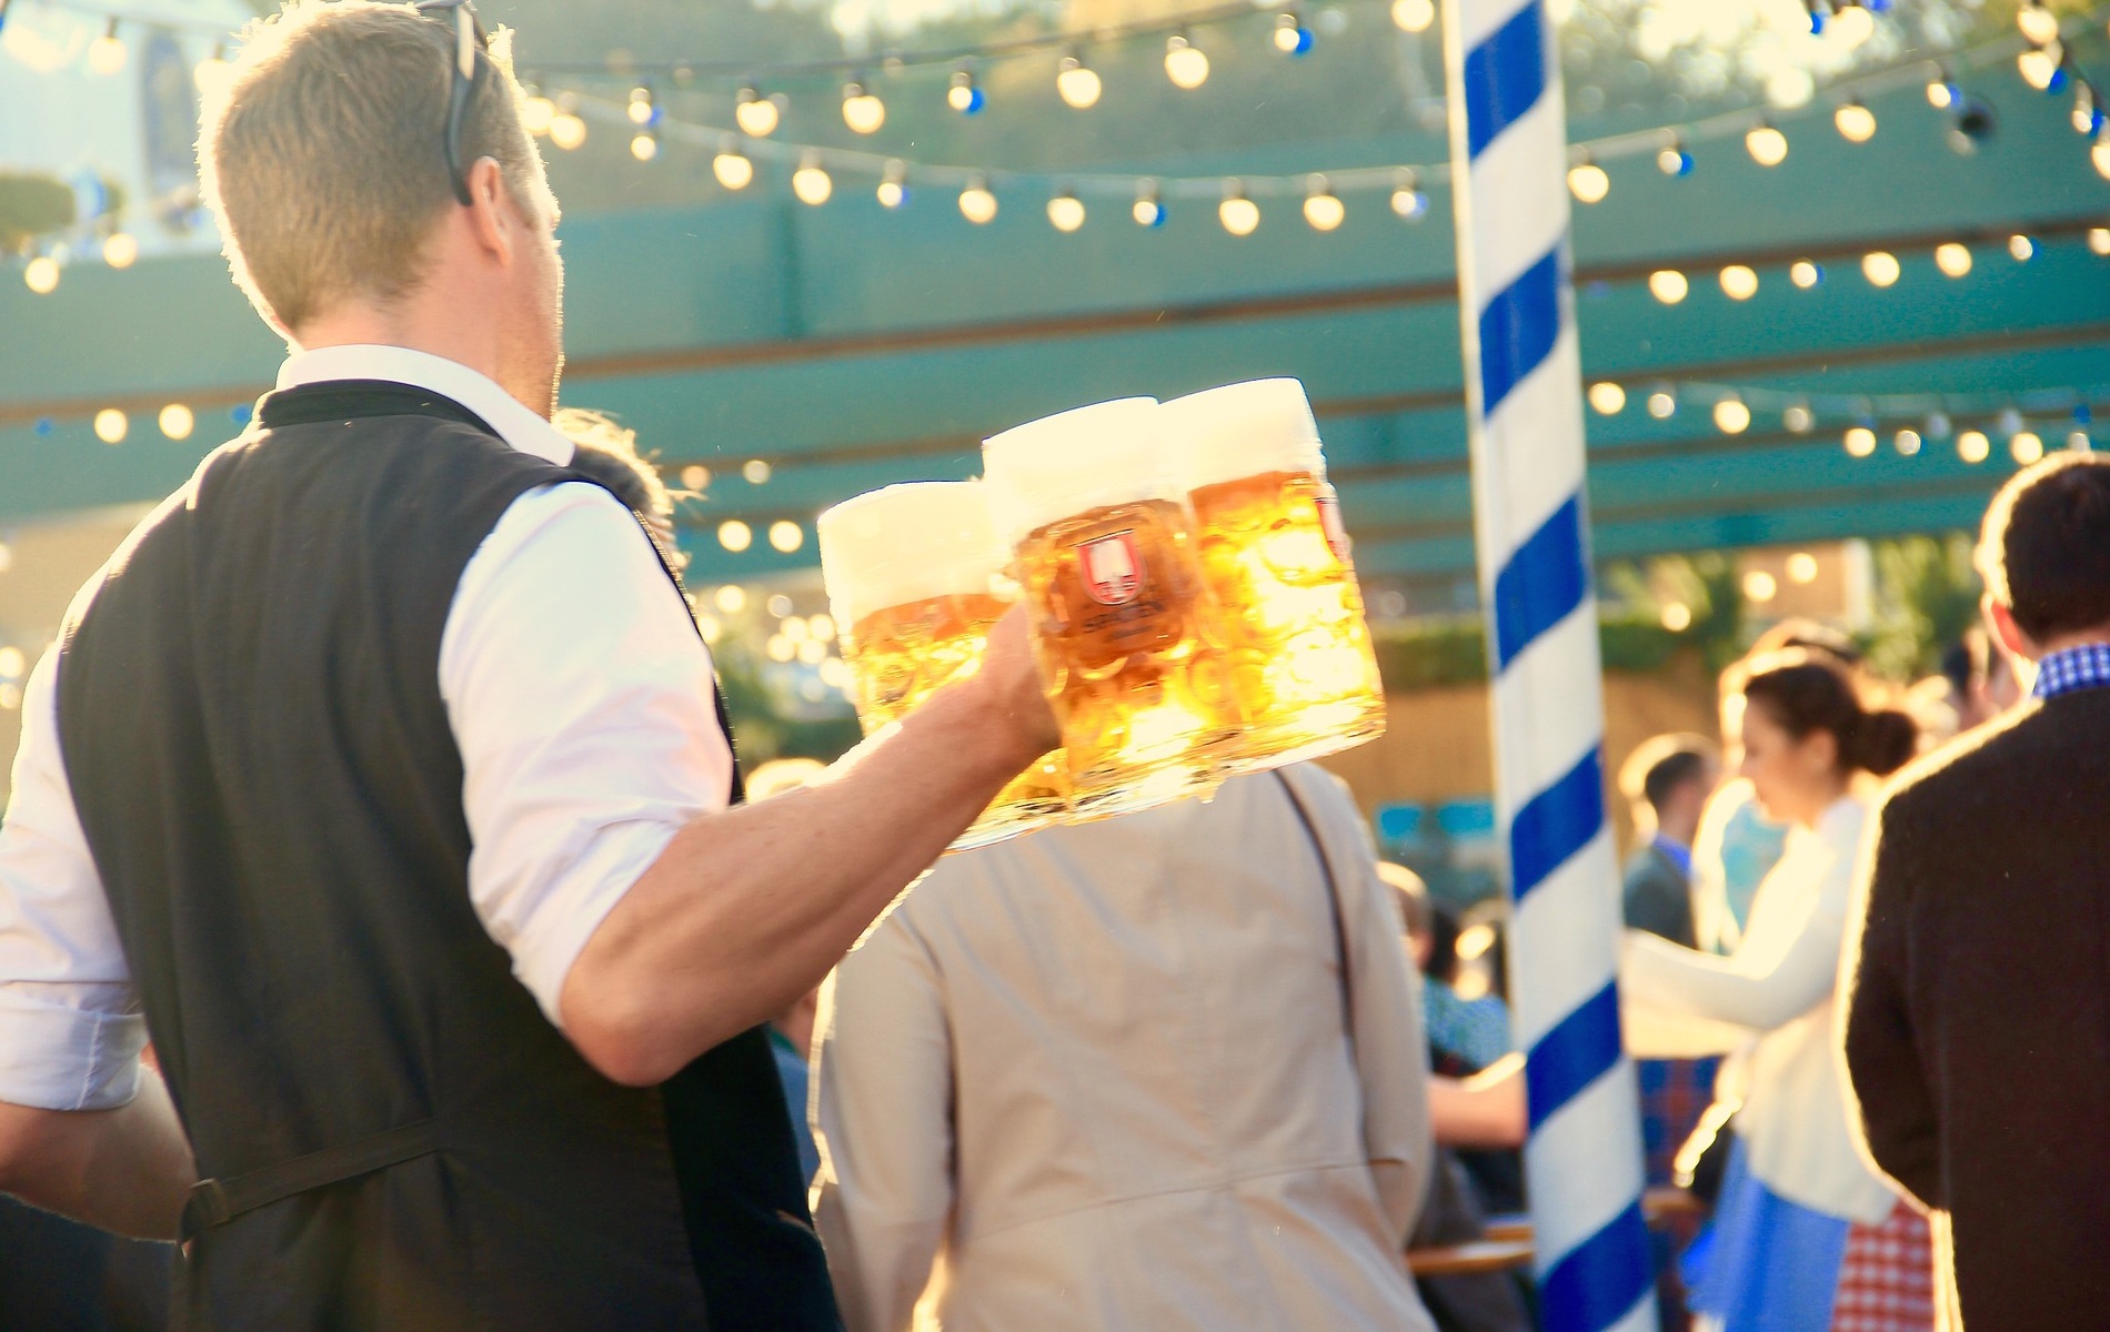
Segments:
[[[981,472],[1006,546],[1085,510],[1186,495],[1156,398],[1114,398],[1013,426],[981,443]]]

